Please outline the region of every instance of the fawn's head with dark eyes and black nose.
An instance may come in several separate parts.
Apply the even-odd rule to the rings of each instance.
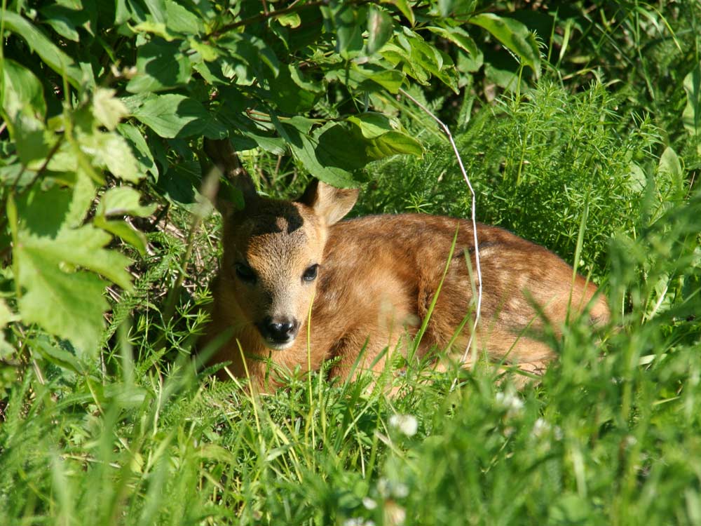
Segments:
[[[210,144],[212,159],[231,176],[231,166],[211,149]],[[327,228],[353,208],[358,191],[313,181],[297,201],[278,201],[257,195],[250,176],[238,167],[235,171],[231,179],[243,192],[245,206],[220,207],[224,255],[219,280],[243,317],[231,323],[254,325],[265,346],[287,349],[306,320],[324,271]]]

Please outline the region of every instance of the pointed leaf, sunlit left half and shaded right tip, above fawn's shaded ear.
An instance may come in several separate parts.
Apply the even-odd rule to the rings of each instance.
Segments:
[[[134,111],[134,116],[161,137],[204,134],[212,139],[222,139],[228,133],[200,102],[175,93],[152,95]]]

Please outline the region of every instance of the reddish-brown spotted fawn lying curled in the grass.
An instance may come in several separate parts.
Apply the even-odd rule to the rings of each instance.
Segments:
[[[245,200],[243,210],[223,212],[224,255],[205,335],[221,344],[215,361],[231,361],[233,375],[262,389],[268,358],[289,370],[317,370],[336,358],[331,374],[341,378],[382,370],[391,351],[416,335],[446,268],[416,356],[462,355],[477,289],[465,261],[475,269],[472,222],[418,214],[339,222],[357,190],[313,181],[297,201],[259,196],[229,140],[206,141],[205,149]],[[537,337],[543,317],[557,330],[569,312],[588,306],[592,323],[608,321],[597,287],[549,250],[482,224],[477,238],[483,295],[475,343],[489,358],[538,370],[554,357]],[[268,381],[279,384],[274,374]]]

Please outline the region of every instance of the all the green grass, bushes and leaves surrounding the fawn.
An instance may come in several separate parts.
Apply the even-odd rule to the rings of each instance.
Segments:
[[[699,523],[700,24],[693,0],[4,0],[0,523]],[[614,326],[573,321],[523,391],[486,363],[262,398],[198,370],[203,137],[273,196],[318,177],[362,186],[356,215],[468,217],[405,94],[479,220],[601,283]]]

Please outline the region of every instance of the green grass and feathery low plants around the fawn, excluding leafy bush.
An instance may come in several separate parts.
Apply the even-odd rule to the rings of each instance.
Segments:
[[[688,2],[665,11],[678,53],[660,18],[639,20],[648,4],[616,6],[627,11],[615,24],[599,16],[576,45],[621,86],[551,74],[474,111],[468,97],[454,123],[480,220],[573,262],[586,215],[576,263],[603,283],[613,327],[572,323],[552,343],[557,363],[522,391],[485,364],[442,375],[409,364],[374,389],[293,372],[251,398],[190,356],[216,219],[198,230],[175,316],[163,315],[190,223],[176,213],[177,235],[150,234],[156,254],[116,302],[99,363],[67,364],[61,342],[27,328],[42,352],[1,369],[15,382],[0,405],[0,525],[701,524],[700,165],[680,121],[699,32],[680,27],[696,27]],[[628,67],[612,66],[617,53]],[[445,142],[399,106],[433,146],[373,166],[355,213],[467,216]],[[247,161],[270,168],[271,194],[304,184],[293,165]]]

